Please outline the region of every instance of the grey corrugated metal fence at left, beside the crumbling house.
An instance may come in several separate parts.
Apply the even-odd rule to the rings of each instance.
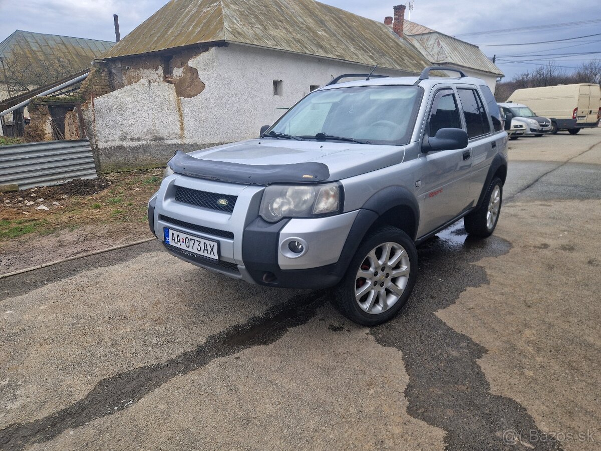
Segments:
[[[16,183],[19,189],[28,189],[95,178],[88,140],[0,146],[0,185]]]

